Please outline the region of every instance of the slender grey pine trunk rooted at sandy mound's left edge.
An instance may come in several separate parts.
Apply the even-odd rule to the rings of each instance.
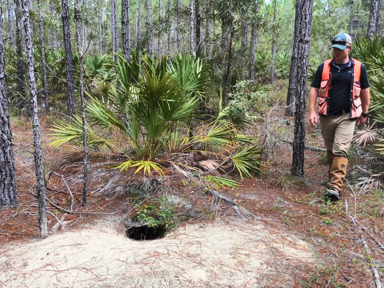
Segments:
[[[25,31],[26,59],[29,78],[29,90],[31,93],[31,110],[32,110],[32,131],[33,146],[35,147],[35,172],[36,172],[36,190],[39,206],[39,228],[40,238],[44,238],[48,233],[46,202],[45,202],[45,181],[43,169],[43,152],[41,151],[40,122],[38,117],[37,106],[37,89],[35,81],[34,61],[32,55],[32,28],[29,15],[28,0],[22,0],[22,13]]]

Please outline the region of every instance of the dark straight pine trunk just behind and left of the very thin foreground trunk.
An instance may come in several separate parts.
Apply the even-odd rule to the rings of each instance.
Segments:
[[[73,59],[72,59],[72,45],[71,45],[71,28],[70,28],[70,7],[68,0],[61,0],[62,12],[61,19],[63,21],[63,41],[65,50],[65,63],[67,69],[67,97],[68,97],[68,115],[73,116],[76,114],[74,103],[74,89],[73,89]]]

